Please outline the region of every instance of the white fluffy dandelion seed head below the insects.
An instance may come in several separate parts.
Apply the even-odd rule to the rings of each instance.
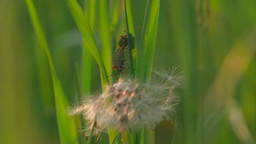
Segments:
[[[171,75],[153,73],[158,78],[149,84],[120,79],[113,86],[106,86],[102,94],[74,108],[71,114],[80,113],[89,120],[87,131],[96,122],[95,134],[108,128],[117,131],[136,131],[144,125],[155,128],[157,123],[171,119],[174,106],[179,102],[176,89],[182,86],[183,76],[177,69]]]

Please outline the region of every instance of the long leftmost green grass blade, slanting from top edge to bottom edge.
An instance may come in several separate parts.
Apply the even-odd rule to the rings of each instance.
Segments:
[[[56,103],[57,123],[60,134],[61,143],[78,143],[77,130],[75,129],[74,119],[66,116],[65,109],[69,106],[65,94],[62,91],[61,83],[56,75],[53,61],[49,52],[49,47],[46,42],[45,35],[42,27],[40,26],[36,9],[31,0],[26,0],[28,12],[31,16],[31,20],[36,31],[39,44],[44,49],[49,61],[51,76],[53,79],[54,95]]]

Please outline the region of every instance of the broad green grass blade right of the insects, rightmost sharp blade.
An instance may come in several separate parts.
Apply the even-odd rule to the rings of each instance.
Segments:
[[[149,82],[155,52],[160,0],[147,2],[141,45],[138,49],[137,76],[141,82]]]

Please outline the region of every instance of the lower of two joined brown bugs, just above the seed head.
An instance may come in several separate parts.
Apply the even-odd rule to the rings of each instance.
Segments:
[[[129,58],[129,57],[125,57],[125,52],[127,51],[124,51],[124,47],[118,46],[117,49],[115,49],[112,69],[116,70],[118,75],[123,73],[123,70],[125,70],[126,68],[130,69],[130,67],[124,66],[125,59]]]

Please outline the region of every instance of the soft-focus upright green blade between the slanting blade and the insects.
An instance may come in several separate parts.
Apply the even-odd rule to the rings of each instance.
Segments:
[[[107,1],[99,1],[100,7],[100,36],[102,45],[102,59],[106,66],[107,74],[112,75],[112,49],[110,48],[109,13]],[[109,77],[112,83],[112,77]],[[114,139],[114,137],[113,137]]]

